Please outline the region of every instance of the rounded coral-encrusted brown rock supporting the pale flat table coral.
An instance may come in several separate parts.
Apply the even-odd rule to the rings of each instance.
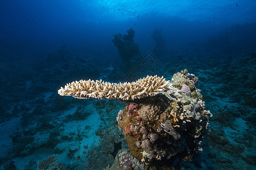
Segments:
[[[164,82],[168,88],[155,95],[119,99],[126,107],[119,111],[117,121],[134,160],[146,167],[171,167],[175,159],[191,160],[203,150],[200,144],[212,114],[205,110],[197,81],[183,70],[171,82]],[[189,92],[181,90],[184,87]]]

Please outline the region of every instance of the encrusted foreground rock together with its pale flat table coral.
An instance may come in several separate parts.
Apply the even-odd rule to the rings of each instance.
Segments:
[[[176,73],[171,83],[157,76],[130,84],[73,82],[61,88],[59,94],[81,99],[126,99],[126,107],[119,111],[117,121],[131,156],[148,167],[170,167],[175,159],[191,160],[197,151],[202,151],[200,144],[212,116],[205,110],[200,90],[189,75],[187,70]],[[184,85],[189,93],[181,90]],[[127,161],[122,163],[126,167],[131,165]]]

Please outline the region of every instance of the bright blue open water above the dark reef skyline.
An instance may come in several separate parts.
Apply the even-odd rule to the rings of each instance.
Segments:
[[[1,43],[9,42],[32,52],[53,52],[67,44],[113,54],[113,34],[126,33],[131,27],[143,52],[154,46],[150,37],[154,28],[163,28],[167,48],[176,49],[233,24],[253,23],[256,18],[256,3],[249,0],[0,3]]]

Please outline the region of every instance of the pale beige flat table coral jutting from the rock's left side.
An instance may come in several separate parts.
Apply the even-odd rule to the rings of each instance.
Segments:
[[[154,96],[171,89],[170,81],[159,76],[146,76],[136,82],[109,83],[102,80],[80,80],[61,87],[61,96],[73,96],[79,99],[134,100]]]

